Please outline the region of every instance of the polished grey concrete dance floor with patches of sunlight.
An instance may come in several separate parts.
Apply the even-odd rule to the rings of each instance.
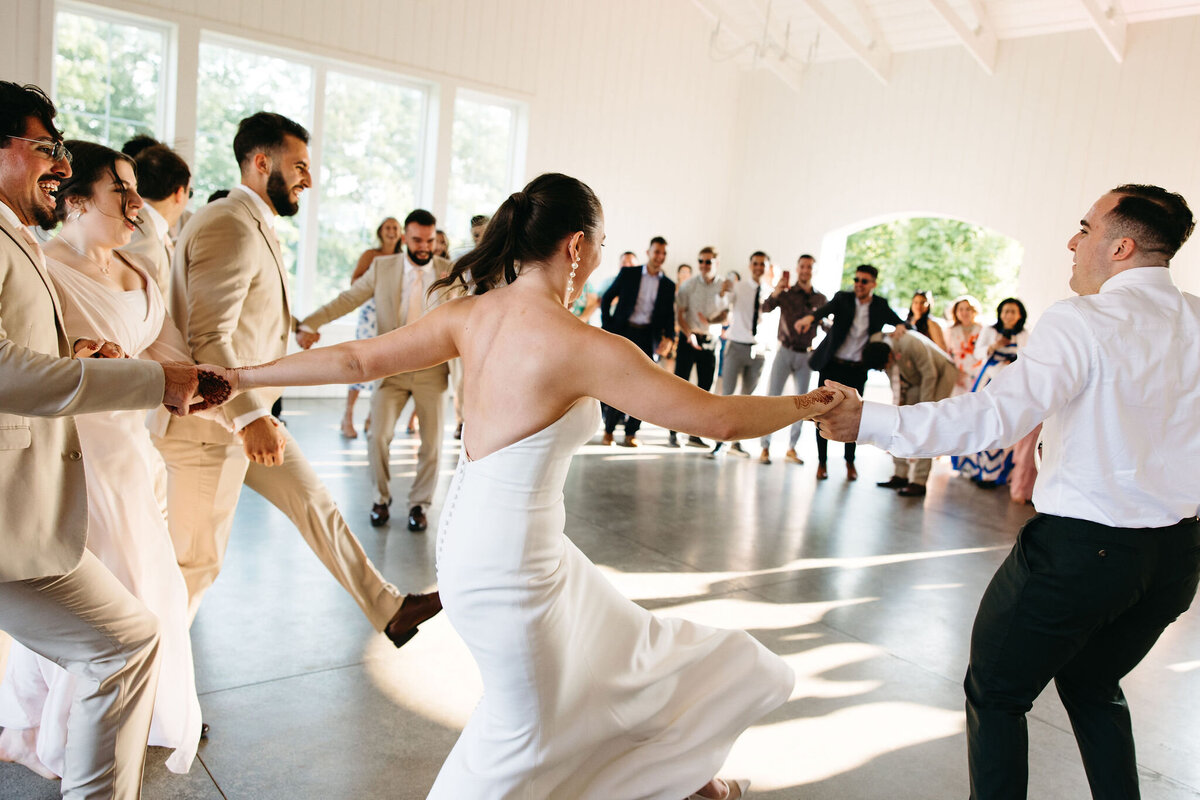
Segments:
[[[290,429],[379,569],[406,591],[432,588],[433,531],[409,534],[402,509],[390,528],[367,524],[366,444],[343,440],[338,416],[336,401],[287,403]],[[724,770],[752,778],[755,798],[965,798],[960,684],[971,621],[1031,511],[954,477],[944,459],[924,503],[898,498],[875,487],[892,467],[869,447],[859,449],[857,483],[844,480],[839,445],[830,479],[817,483],[811,437],[806,428],[804,465],[708,461],[666,449],[656,428],[636,451],[586,446],[568,480],[568,534],[647,608],[745,628],[796,669],[791,700],[737,742]],[[446,439],[439,498],[457,458]],[[397,505],[415,451],[415,438],[397,437]],[[151,750],[150,800],[416,800],[480,691],[444,616],[395,650],[283,516],[248,491],[192,636],[212,735],[186,776],[167,772],[164,751]],[[1192,612],[1126,681],[1146,800],[1200,798],[1198,688]],[[1087,798],[1052,691],[1030,715],[1030,798]],[[56,798],[56,787],[0,765],[6,800]]]

